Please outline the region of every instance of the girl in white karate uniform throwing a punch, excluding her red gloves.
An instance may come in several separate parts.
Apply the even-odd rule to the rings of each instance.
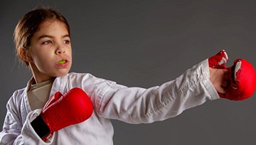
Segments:
[[[87,73],[69,73],[70,28],[65,17],[52,9],[36,9],[23,16],[14,31],[14,42],[18,56],[31,69],[33,77],[7,102],[0,144],[110,145],[114,134],[110,119],[140,124],[175,117],[206,100],[220,98],[218,93],[225,93],[228,85],[228,70],[209,68],[208,59],[176,80],[149,89],[117,85]],[[227,59],[225,53],[221,55]],[[92,116],[53,132],[43,141],[31,122],[41,114],[50,96],[55,92],[64,94],[74,87],[90,97]]]

